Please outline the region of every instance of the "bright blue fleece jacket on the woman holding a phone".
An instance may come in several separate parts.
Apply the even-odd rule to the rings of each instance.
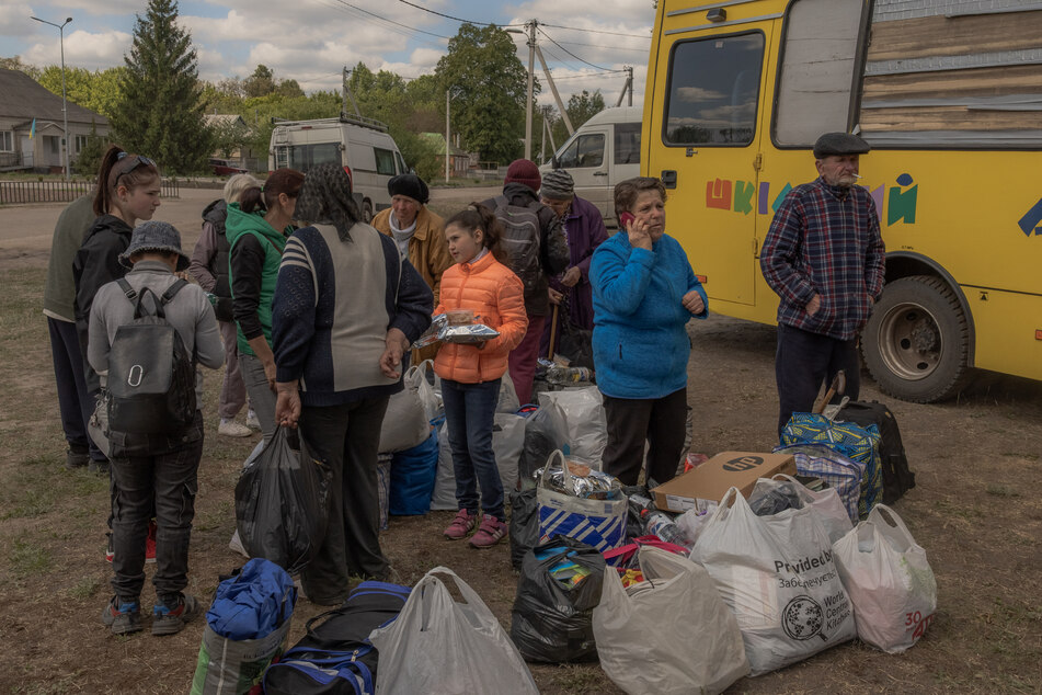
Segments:
[[[614,398],[662,398],[687,385],[691,344],[685,326],[703,319],[680,304],[691,289],[709,299],[676,239],[634,249],[619,231],[597,247],[589,264],[594,290],[597,386]]]

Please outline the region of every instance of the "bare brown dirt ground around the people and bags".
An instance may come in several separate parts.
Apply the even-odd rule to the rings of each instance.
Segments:
[[[190,248],[216,192],[164,202]],[[436,196],[458,209],[470,192]],[[484,196],[482,196],[484,197]],[[2,693],[184,693],[202,622],[183,633],[114,637],[101,624],[107,479],[64,468],[47,329],[41,314],[50,233],[60,206],[0,208],[0,669]],[[690,326],[692,451],[769,451],[775,444],[775,331],[713,316]],[[216,435],[219,374],[206,374],[207,438],[192,538],[188,591],[208,603],[218,576],[241,565],[228,539],[233,488],[256,437]],[[882,399],[866,376],[862,398]],[[895,509],[929,554],[939,609],[923,640],[888,656],[849,642],[731,693],[1042,692],[1042,383],[980,374],[955,400],[888,401],[917,487]],[[516,574],[506,544],[488,551],[442,539],[448,512],[392,517],[383,547],[404,583],[454,569],[509,627]],[[149,566],[148,571],[151,572]],[[146,586],[144,608],[151,606]],[[300,601],[291,640],[321,609]],[[640,640],[640,635],[633,636]],[[654,668],[654,664],[648,664]],[[596,663],[533,665],[546,693],[618,693]]]

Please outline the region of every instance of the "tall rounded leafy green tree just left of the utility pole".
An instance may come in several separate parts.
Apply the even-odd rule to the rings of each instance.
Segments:
[[[499,162],[522,152],[528,71],[509,34],[497,26],[460,25],[434,73],[442,87],[442,115],[448,90],[454,129],[468,149]]]

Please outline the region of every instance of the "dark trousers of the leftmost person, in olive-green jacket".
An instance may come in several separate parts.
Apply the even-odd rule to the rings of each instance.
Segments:
[[[94,398],[87,390],[83,378],[83,356],[76,323],[47,317],[50,333],[50,355],[55,364],[55,381],[58,386],[58,410],[61,413],[61,430],[69,448],[77,453],[96,452],[94,458],[104,458],[87,435],[87,423],[94,413]]]

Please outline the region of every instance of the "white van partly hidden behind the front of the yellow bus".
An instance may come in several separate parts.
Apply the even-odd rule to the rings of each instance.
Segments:
[[[640,175],[641,106],[605,109],[565,140],[539,170],[564,169],[575,194],[597,206],[609,227],[615,219],[615,184]]]

